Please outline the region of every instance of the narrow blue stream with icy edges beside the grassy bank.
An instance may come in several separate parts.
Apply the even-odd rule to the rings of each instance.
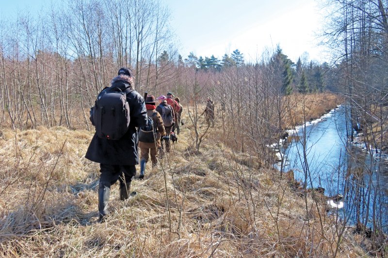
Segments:
[[[367,218],[368,227],[378,225],[387,232],[388,161],[376,153],[373,157],[360,148],[362,145],[353,146],[349,153],[346,131],[344,106],[289,131],[298,137],[285,144],[285,149],[280,148],[284,153],[283,171],[293,170],[295,180],[306,183],[308,188],[323,187],[326,196],[342,194],[344,208],[339,213],[349,218],[349,223],[365,223]],[[303,135],[306,135],[306,161]],[[281,162],[276,166],[280,169]]]

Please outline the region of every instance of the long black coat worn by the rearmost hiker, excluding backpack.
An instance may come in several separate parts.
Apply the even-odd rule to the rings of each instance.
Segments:
[[[113,79],[112,86],[118,86],[122,91],[125,91],[128,82]],[[139,164],[136,127],[142,127],[147,124],[146,105],[144,98],[136,91],[127,93],[127,101],[130,110],[130,122],[127,133],[119,140],[102,139],[95,134],[85,155],[87,159],[109,165]]]

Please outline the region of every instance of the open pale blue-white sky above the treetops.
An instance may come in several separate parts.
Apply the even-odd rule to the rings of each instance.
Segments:
[[[1,0],[4,17],[17,12],[39,14],[55,0]],[[261,58],[265,49],[280,44],[296,61],[307,51],[310,59],[325,61],[315,33],[322,17],[314,0],[161,0],[170,9],[171,27],[179,53],[221,58],[238,48],[246,60]]]

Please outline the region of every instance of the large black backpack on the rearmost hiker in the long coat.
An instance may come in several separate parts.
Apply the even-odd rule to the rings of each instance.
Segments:
[[[105,87],[98,94],[91,112],[98,137],[118,140],[127,133],[130,121],[127,94],[132,91],[129,86],[125,91],[118,87]]]

